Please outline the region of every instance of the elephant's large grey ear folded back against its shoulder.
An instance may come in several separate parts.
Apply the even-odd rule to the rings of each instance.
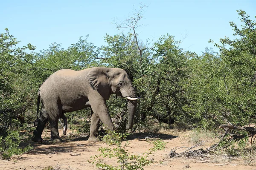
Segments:
[[[87,81],[104,99],[109,99],[111,89],[107,71],[103,68],[92,68],[87,74]]]

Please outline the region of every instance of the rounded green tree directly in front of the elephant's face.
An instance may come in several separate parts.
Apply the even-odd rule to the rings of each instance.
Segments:
[[[182,79],[186,77],[186,56],[178,47],[179,41],[167,34],[154,43],[154,62],[145,70],[145,76],[136,82],[143,91],[142,112],[150,113],[155,119],[169,125],[183,115],[186,99]]]

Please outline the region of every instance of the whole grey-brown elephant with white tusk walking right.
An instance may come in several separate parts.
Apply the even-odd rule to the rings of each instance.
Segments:
[[[99,141],[96,132],[100,121],[109,130],[114,130],[106,106],[106,100],[111,94],[130,97],[128,99],[129,115],[126,128],[131,129],[138,98],[131,80],[124,70],[95,67],[81,71],[63,69],[53,73],[38,91],[38,111],[40,102],[42,108],[32,140],[35,142],[43,140],[41,135],[45,124],[49,121],[51,140],[63,142],[58,133],[58,119],[62,118],[67,127],[67,118],[64,113],[91,107],[92,115],[88,141]],[[64,127],[64,133],[66,130]]]

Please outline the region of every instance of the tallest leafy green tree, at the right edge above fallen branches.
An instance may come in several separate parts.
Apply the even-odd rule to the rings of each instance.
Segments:
[[[225,116],[237,124],[247,125],[256,121],[256,21],[250,20],[245,11],[237,12],[243,25],[238,27],[230,22],[234,40],[225,37],[215,45],[221,57],[221,100],[229,112]]]

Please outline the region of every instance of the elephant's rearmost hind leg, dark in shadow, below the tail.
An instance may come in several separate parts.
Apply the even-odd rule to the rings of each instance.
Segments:
[[[46,112],[45,108],[42,108],[40,117],[38,120],[38,124],[36,126],[36,129],[33,132],[32,141],[34,141],[34,142],[42,142],[43,141],[41,136],[42,136],[44,127],[47,122],[48,122],[47,112]]]

